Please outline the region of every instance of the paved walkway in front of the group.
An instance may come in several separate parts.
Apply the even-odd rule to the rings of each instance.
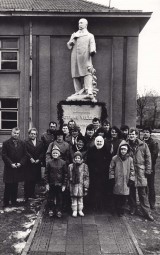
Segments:
[[[49,218],[41,210],[22,255],[142,255],[125,217]]]

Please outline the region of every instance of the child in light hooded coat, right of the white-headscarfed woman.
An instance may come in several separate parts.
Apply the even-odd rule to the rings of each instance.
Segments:
[[[135,181],[133,159],[129,156],[129,151],[128,143],[123,140],[119,145],[117,155],[112,158],[109,169],[109,179],[113,184],[115,208],[119,216],[124,214],[129,187],[134,185]]]

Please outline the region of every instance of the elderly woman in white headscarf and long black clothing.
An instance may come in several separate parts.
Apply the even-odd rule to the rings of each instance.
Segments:
[[[89,204],[93,210],[103,210],[106,204],[106,180],[110,164],[110,145],[104,144],[102,136],[95,138],[95,145],[87,156],[90,188]]]

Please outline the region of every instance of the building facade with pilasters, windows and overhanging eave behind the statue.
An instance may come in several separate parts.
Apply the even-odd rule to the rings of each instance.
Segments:
[[[12,127],[25,138],[29,126],[41,134],[57,121],[57,103],[74,93],[66,43],[82,17],[97,45],[97,99],[113,125],[136,125],[138,37],[151,13],[81,0],[10,2],[0,3],[0,143]]]

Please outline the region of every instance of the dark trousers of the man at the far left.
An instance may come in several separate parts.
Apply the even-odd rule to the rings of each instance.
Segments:
[[[16,203],[18,194],[18,183],[5,183],[3,205],[8,206],[11,201],[12,204]]]

